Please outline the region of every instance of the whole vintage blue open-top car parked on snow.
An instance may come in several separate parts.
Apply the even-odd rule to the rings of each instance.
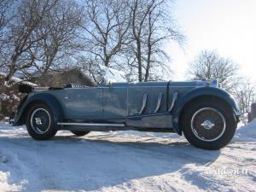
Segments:
[[[84,136],[90,131],[160,131],[184,135],[197,148],[230,143],[239,121],[236,102],[215,80],[188,82],[103,82],[95,87],[67,84],[38,89],[20,85],[15,125],[34,139],[58,130]]]

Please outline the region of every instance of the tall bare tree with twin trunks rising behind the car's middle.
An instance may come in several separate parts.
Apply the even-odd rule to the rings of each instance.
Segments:
[[[163,49],[170,40],[183,43],[184,37],[174,26],[171,15],[166,14],[166,0],[132,0],[130,57],[135,57],[130,67],[137,69],[139,81],[154,80],[160,70],[170,73],[168,56]],[[130,59],[132,61],[132,59]],[[134,60],[133,60],[134,61]],[[155,75],[158,71],[158,75]]]

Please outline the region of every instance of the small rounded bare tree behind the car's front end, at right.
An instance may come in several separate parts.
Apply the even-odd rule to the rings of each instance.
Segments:
[[[189,75],[192,79],[218,79],[225,90],[231,90],[236,80],[238,65],[214,50],[203,50],[191,63]]]

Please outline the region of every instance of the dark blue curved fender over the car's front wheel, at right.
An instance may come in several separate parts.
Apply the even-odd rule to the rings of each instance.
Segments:
[[[179,98],[177,103],[175,104],[175,107],[172,110],[172,123],[175,131],[177,131],[178,134],[182,134],[182,130],[179,127],[179,117],[183,111],[184,106],[188,102],[192,101],[193,99],[199,96],[218,97],[219,99],[223,100],[224,102],[227,102],[230,105],[230,108],[232,108],[236,119],[240,116],[240,112],[236,105],[236,102],[227,91],[215,87],[195,88],[194,90],[191,90],[187,94],[185,94],[182,98]]]

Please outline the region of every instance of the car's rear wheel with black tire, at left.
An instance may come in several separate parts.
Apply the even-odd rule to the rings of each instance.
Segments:
[[[55,117],[44,103],[35,103],[29,108],[26,116],[26,129],[36,140],[48,140],[55,136]]]

